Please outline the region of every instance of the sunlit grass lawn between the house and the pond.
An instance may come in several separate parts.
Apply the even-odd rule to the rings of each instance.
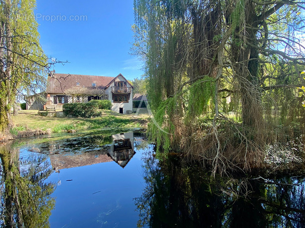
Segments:
[[[85,130],[107,127],[145,127],[148,118],[146,108],[141,108],[138,115],[120,114],[111,110],[103,110],[101,117],[49,117],[40,116],[37,110],[21,110],[17,116],[12,116],[14,127],[12,133],[26,129],[42,129],[51,132],[61,132],[68,129]]]

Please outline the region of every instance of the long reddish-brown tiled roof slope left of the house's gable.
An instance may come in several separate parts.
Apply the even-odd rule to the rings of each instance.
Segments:
[[[112,79],[114,79],[114,77],[53,73],[52,76],[48,76],[46,92],[64,93],[65,90],[76,86],[103,89]],[[77,85],[77,82],[79,82],[79,85]],[[92,83],[95,83],[96,86],[93,87]]]

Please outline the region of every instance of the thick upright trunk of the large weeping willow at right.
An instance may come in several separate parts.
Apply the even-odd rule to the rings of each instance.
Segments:
[[[253,46],[258,45],[256,37],[258,22],[251,1],[245,3],[245,18],[235,29],[232,43],[233,66],[240,85],[242,99],[242,119],[246,127],[254,131],[263,130],[263,108],[258,87],[258,51]],[[252,45],[248,45],[251,42]]]

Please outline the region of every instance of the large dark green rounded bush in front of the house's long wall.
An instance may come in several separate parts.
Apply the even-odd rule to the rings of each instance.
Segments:
[[[64,113],[75,117],[97,117],[102,114],[98,105],[94,102],[88,103],[65,103],[63,105]]]

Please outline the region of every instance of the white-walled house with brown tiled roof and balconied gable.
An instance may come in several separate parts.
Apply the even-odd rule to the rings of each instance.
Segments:
[[[116,77],[51,72],[47,83],[46,107],[62,109],[64,103],[109,99],[111,110],[132,111],[132,85],[120,73]]]

